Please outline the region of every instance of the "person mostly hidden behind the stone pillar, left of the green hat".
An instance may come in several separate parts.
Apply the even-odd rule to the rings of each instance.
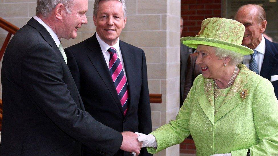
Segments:
[[[180,30],[182,34],[183,30],[183,18],[181,17],[180,20]],[[180,70],[180,91],[179,91],[179,101],[180,101],[180,107],[183,105],[183,101],[185,98],[183,98],[183,90],[185,86],[185,77],[186,77],[186,69],[187,69],[187,59],[189,54],[192,53],[192,48],[187,47],[186,45],[181,43],[181,70]]]

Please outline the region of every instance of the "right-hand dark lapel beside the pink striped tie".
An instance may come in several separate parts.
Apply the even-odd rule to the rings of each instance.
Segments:
[[[135,60],[134,55],[132,52],[130,52],[129,48],[127,46],[124,46],[122,41],[120,41],[120,50],[122,53],[122,60],[124,62],[124,70],[126,73],[126,79],[127,79],[127,83],[128,83],[128,95],[129,95],[129,105],[128,105],[128,109],[132,108],[133,105],[133,99],[134,99],[134,94],[136,92],[136,86],[135,86],[135,78],[134,75],[136,75],[136,71],[134,69],[136,69],[134,63],[132,62],[132,60]]]

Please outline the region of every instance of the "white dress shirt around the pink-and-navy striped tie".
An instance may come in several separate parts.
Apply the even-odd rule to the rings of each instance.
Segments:
[[[101,47],[101,51],[103,53],[103,56],[104,56],[104,59],[106,61],[106,64],[107,64],[107,67],[109,68],[109,59],[110,59],[110,54],[108,53],[108,49],[110,47],[113,47],[116,49],[116,54],[117,54],[117,57],[120,59],[121,63],[122,63],[122,68],[124,70],[124,62],[122,60],[122,53],[121,53],[121,49],[120,49],[120,44],[119,44],[119,38],[117,40],[117,42],[113,45],[113,46],[110,46],[108,45],[107,43],[105,43],[100,37],[99,35],[97,34],[96,32],[96,37],[97,37],[97,41],[99,42],[99,45]],[[126,77],[126,71],[124,70],[124,76]],[[126,78],[126,83],[127,83],[127,78]],[[128,83],[127,83],[128,84]]]

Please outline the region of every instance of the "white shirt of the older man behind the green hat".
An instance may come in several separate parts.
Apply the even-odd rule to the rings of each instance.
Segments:
[[[263,57],[265,55],[265,38],[263,37],[263,34],[261,34],[261,36],[261,43],[255,49],[253,49],[258,51],[257,55],[255,56],[255,60],[257,61],[259,74],[261,73],[261,66],[263,64]],[[245,64],[247,68],[249,68],[250,59],[251,55],[244,55],[243,64]]]

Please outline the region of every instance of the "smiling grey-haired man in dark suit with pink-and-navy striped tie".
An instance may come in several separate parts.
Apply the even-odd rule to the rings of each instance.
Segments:
[[[96,33],[65,49],[84,102],[97,121],[118,132],[152,132],[144,51],[119,40],[126,23],[124,0],[95,0]],[[135,39],[136,37],[134,37]],[[84,155],[98,155],[87,146]],[[115,155],[130,155],[119,150]],[[140,155],[150,155],[142,149]]]

